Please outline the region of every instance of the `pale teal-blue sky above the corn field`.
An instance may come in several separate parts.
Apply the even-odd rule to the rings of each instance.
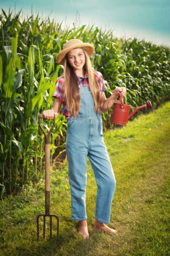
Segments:
[[[80,25],[95,24],[115,36],[145,39],[170,46],[170,0],[0,0],[4,11]],[[2,13],[2,11],[1,11]]]

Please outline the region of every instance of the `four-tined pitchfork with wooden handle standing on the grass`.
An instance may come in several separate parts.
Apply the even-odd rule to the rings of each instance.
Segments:
[[[40,214],[37,216],[37,239],[39,240],[39,217],[43,216],[44,226],[43,226],[43,238],[45,239],[45,217],[50,217],[50,240],[52,239],[52,217],[57,218],[57,243],[59,239],[59,218],[56,215],[50,214],[50,134],[55,125],[55,116],[53,126],[49,130],[48,134],[44,131],[41,126],[40,118],[44,118],[43,114],[39,116],[39,125],[45,136],[45,214]]]

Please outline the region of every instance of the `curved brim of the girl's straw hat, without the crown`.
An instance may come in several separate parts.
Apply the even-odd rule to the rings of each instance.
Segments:
[[[91,43],[77,43],[74,45],[71,45],[69,47],[67,47],[66,49],[61,50],[61,52],[57,55],[57,62],[60,65],[64,65],[64,57],[65,55],[72,49],[75,48],[83,48],[87,51],[89,57],[92,57],[92,55],[95,52],[95,47],[91,44]]]

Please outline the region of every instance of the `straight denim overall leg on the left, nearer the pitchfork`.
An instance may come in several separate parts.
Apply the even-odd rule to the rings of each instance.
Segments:
[[[66,153],[71,191],[71,219],[87,220],[86,186],[90,120],[69,120]],[[83,132],[82,131],[83,127]]]

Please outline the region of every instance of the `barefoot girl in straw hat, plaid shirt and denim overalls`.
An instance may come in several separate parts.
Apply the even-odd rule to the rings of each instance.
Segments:
[[[67,119],[66,153],[71,191],[71,218],[79,221],[78,232],[89,238],[86,215],[87,157],[94,170],[98,186],[94,229],[116,234],[107,225],[116,181],[103,139],[101,112],[111,108],[125,87],[116,88],[106,99],[106,86],[102,74],[93,71],[90,57],[95,48],[78,39],[67,41],[57,55],[64,65],[64,75],[56,82],[52,110],[43,112],[46,119],[62,115]],[[109,103],[112,101],[112,103]]]

